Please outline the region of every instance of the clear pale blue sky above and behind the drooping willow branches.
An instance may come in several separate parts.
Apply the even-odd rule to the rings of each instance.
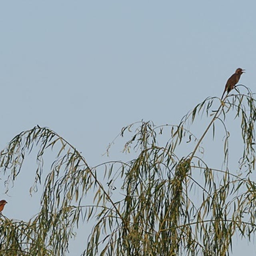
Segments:
[[[252,0],[1,1],[0,147],[39,124],[94,165],[123,126],[178,124],[204,98],[220,97],[238,67],[255,92],[255,10]],[[8,196],[2,180],[8,218],[38,211],[26,183],[34,169],[28,164]],[[256,255],[255,243],[233,243],[232,255]],[[75,241],[71,255],[82,248]]]

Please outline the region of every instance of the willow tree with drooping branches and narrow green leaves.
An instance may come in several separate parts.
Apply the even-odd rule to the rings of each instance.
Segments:
[[[191,125],[202,114],[208,125],[197,137]],[[240,123],[244,145],[241,158],[232,161],[228,116],[239,120],[235,124]],[[195,129],[203,125],[197,120]],[[256,232],[256,183],[251,178],[255,120],[255,99],[248,88],[223,101],[206,98],[178,125],[142,121],[122,128],[120,136],[129,136],[123,152],[132,159],[97,166],[90,166],[75,146],[49,128],[21,132],[2,150],[1,170],[8,186],[36,150],[38,166],[30,192],[43,188],[41,208],[28,222],[0,218],[0,254],[64,255],[74,228],[88,220],[94,226],[81,245],[82,255],[229,254],[234,235],[251,239]],[[206,134],[216,140],[220,126],[223,168],[217,169],[206,163],[200,148]],[[45,170],[48,150],[56,152],[56,158]],[[238,168],[230,170],[234,162]],[[86,204],[90,193],[94,203]]]

